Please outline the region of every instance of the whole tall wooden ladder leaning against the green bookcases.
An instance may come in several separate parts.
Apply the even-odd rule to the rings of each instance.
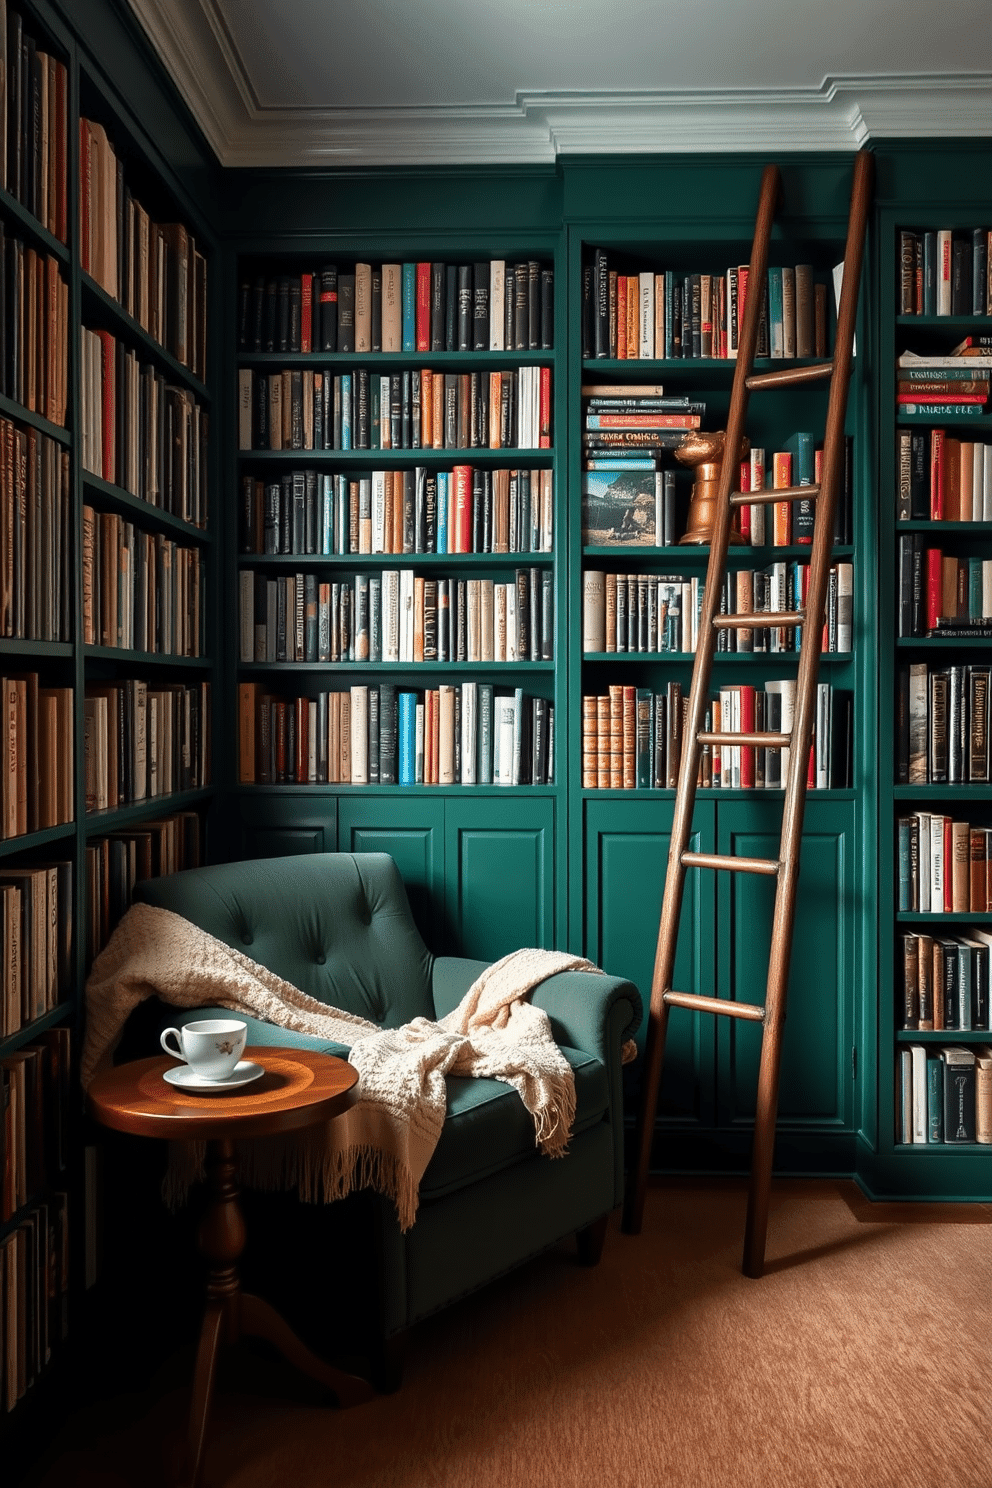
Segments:
[[[848,240],[843,256],[843,283],[837,310],[837,330],[833,360],[815,366],[785,368],[776,372],[754,373],[754,351],[757,345],[761,296],[751,293],[745,299],[744,327],[738,363],[733,375],[730,409],[727,415],[724,458],[721,466],[717,515],[706,567],[706,585],[699,620],[699,641],[693,665],[692,687],[686,714],[686,745],[683,748],[672,836],[662,899],[662,915],[657,931],[657,952],[651,979],[651,1006],[648,1015],[647,1048],[641,1080],[641,1110],[638,1120],[637,1168],[629,1176],[623,1229],[638,1234],[644,1217],[644,1199],[651,1158],[651,1138],[665,1055],[665,1036],[671,1007],[689,1007],[696,1012],[715,1013],[726,1018],[744,1018],[761,1028],[761,1055],[759,1067],[757,1106],[754,1116],[754,1143],[751,1150],[751,1183],[744,1240],[744,1274],[760,1277],[764,1269],[764,1240],[767,1232],[769,1190],[772,1181],[772,1156],[775,1147],[775,1122],[778,1115],[778,1083],[781,1045],[785,1024],[785,1001],[788,990],[788,967],[796,921],[796,885],[806,805],[806,771],[814,731],[817,671],[819,665],[824,603],[833,546],[834,507],[843,473],[843,421],[851,382],[854,357],[854,330],[861,280],[864,235],[872,199],[872,156],[860,152],[854,164],[851,189],[851,211],[848,216]],[[766,283],[769,240],[772,222],[781,193],[781,179],[776,165],[767,165],[761,176],[751,247],[748,284]],[[732,490],[741,469],[741,448],[748,411],[748,396],[764,388],[793,387],[815,379],[830,379],[827,424],[824,432],[821,479],[818,485],[791,487],[778,491]],[[730,525],[733,512],[745,504],[772,504],[773,501],[814,501],[814,537],[809,565],[809,588],[806,607],[793,613],[775,615],[720,615],[720,595],[727,561]],[[717,635],[729,628],[802,626],[802,647],[796,682],[796,711],[791,732],[709,734],[703,728],[712,655]],[[690,853],[693,806],[696,802],[696,780],[700,750],[705,744],[721,747],[747,745],[757,748],[788,748],[788,772],[782,808],[782,830],[778,859],[721,856],[715,853]],[[675,991],[671,985],[675,966],[675,943],[683,905],[686,870],[690,868],[723,869],[732,873],[764,873],[776,879],[775,909],[772,918],[772,942],[764,991],[764,1003],[741,1003],[729,997],[702,997],[695,992]]]

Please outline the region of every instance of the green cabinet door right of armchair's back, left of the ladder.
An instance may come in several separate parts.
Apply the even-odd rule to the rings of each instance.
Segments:
[[[448,798],[448,949],[497,960],[555,945],[555,802]]]

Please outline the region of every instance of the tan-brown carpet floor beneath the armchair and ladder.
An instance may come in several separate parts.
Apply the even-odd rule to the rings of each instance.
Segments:
[[[989,1488],[989,1208],[778,1183],[760,1281],[744,1210],[653,1186],[596,1269],[562,1245],[421,1324],[403,1388],[352,1411],[242,1359],[204,1488]],[[43,1488],[158,1488],[184,1409],[174,1376],[70,1421]]]

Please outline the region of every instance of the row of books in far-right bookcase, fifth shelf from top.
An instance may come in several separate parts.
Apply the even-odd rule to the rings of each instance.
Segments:
[[[895,783],[989,780],[988,662],[901,662],[895,673]]]

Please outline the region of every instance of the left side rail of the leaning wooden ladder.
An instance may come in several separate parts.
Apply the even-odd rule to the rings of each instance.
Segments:
[[[689,708],[683,726],[683,757],[678,772],[678,784],[675,787],[675,809],[672,815],[672,832],[665,873],[665,891],[662,896],[662,915],[657,930],[654,972],[651,976],[647,1040],[644,1062],[641,1067],[638,1155],[634,1183],[628,1187],[628,1202],[623,1217],[623,1228],[628,1234],[640,1232],[647,1195],[654,1113],[657,1109],[662,1056],[665,1051],[665,1036],[668,1031],[669,1010],[665,1003],[665,991],[672,982],[678,921],[686,885],[686,866],[681,862],[681,856],[689,841],[693,806],[696,802],[696,775],[699,772],[699,754],[702,750],[698,735],[703,725],[705,696],[709,687],[712,653],[717,644],[717,631],[712,620],[717,613],[720,586],[726,567],[727,540],[732,521],[730,490],[739,484],[736,472],[739,472],[741,466],[741,443],[744,439],[744,423],[748,408],[747,379],[754,366],[754,351],[757,347],[757,332],[761,311],[760,286],[764,284],[767,275],[769,243],[779,192],[779,170],[776,165],[766,165],[761,173],[761,189],[759,196],[754,241],[751,247],[751,263],[748,266],[748,289],[751,293],[747,295],[744,304],[744,326],[738,344],[738,365],[733,372],[724,454],[720,467],[720,487],[717,491],[717,513],[709,542],[709,561],[706,564],[703,601],[699,616],[699,634],[696,638],[696,658],[693,662],[692,686],[689,692]]]

